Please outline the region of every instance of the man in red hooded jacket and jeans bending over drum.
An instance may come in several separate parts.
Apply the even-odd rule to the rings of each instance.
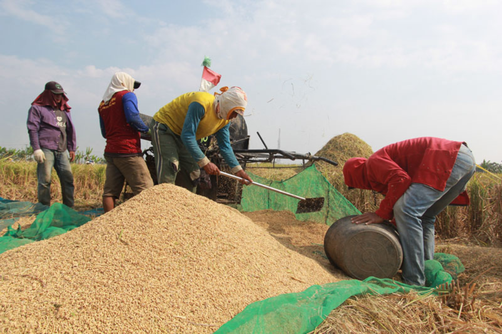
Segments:
[[[434,258],[436,216],[449,204],[469,204],[465,187],[475,166],[465,143],[434,137],[400,141],[368,159],[345,162],[343,177],[349,188],[385,195],[378,210],[354,217],[352,223],[396,221],[405,283],[425,285],[424,263]]]

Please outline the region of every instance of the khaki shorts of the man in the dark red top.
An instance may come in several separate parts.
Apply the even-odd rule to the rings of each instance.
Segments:
[[[124,187],[124,181],[128,182],[133,195],[138,195],[154,186],[147,163],[143,157],[111,157],[105,155],[104,158],[107,163],[103,197],[119,198]]]

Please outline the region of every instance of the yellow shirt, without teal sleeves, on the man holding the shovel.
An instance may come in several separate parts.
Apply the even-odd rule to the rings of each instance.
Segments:
[[[206,92],[191,92],[178,96],[162,108],[154,115],[154,119],[166,124],[174,133],[181,135],[183,123],[188,112],[188,106],[192,102],[197,102],[202,105],[205,110],[204,116],[199,122],[195,138],[197,140],[210,136],[216,133],[230,121],[220,119],[216,116],[213,108],[214,96]]]

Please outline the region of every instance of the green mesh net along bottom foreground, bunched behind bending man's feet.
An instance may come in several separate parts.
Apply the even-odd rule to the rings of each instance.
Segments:
[[[460,260],[454,255],[436,255],[439,255],[438,259],[442,262],[425,262],[426,279],[431,284],[429,287],[410,286],[389,278],[375,277],[368,277],[363,281],[352,279],[312,285],[302,292],[281,294],[249,304],[215,333],[308,333],[351,296],[408,293],[412,290],[420,294],[436,293],[434,287],[451,283],[452,275],[456,276],[463,271],[463,266],[457,265]],[[456,264],[450,265],[452,262]],[[448,273],[443,270],[443,265],[461,271]]]

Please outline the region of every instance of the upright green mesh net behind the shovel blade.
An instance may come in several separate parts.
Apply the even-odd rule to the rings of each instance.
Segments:
[[[360,215],[352,203],[343,197],[326,178],[311,165],[304,171],[286,181],[270,181],[249,173],[253,181],[279,189],[304,198],[324,197],[321,211],[295,214],[300,221],[312,221],[331,225],[340,218],[350,215]],[[272,209],[275,211],[291,211],[296,213],[299,200],[290,196],[256,187],[244,187],[240,202],[242,211],[258,211]]]

